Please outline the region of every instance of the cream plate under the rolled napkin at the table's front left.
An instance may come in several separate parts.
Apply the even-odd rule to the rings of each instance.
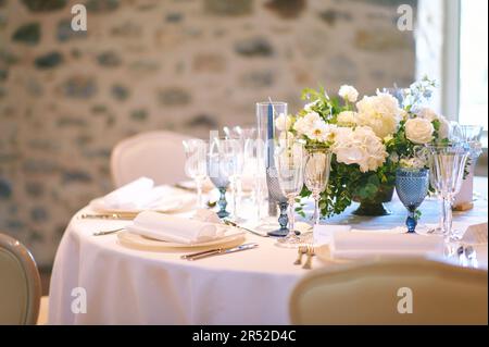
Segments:
[[[236,233],[233,235],[224,236],[223,238],[212,241],[187,245],[177,243],[166,243],[159,239],[145,237],[138,234],[133,234],[126,231],[117,234],[121,245],[149,251],[187,251],[187,250],[205,250],[221,247],[236,247],[244,243],[246,236],[243,233]]]

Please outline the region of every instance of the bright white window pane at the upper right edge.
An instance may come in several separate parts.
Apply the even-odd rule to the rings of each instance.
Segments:
[[[461,1],[460,110],[462,124],[481,124],[488,129],[488,1]]]

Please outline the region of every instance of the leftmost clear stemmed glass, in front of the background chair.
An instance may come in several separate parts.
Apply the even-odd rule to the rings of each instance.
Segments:
[[[196,182],[197,206],[203,208],[202,185],[208,176],[206,154],[209,144],[202,139],[184,140],[184,150],[187,157],[185,173]]]

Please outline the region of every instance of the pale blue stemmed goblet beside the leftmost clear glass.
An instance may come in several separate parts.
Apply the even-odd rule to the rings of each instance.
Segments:
[[[217,215],[221,219],[229,216],[229,212],[226,211],[226,189],[229,186],[229,177],[236,172],[235,151],[236,140],[226,138],[214,138],[209,148],[208,174],[220,190]]]

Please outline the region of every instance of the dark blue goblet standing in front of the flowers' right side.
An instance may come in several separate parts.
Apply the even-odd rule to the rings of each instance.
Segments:
[[[409,211],[405,225],[408,233],[415,233],[417,208],[428,194],[429,170],[427,169],[398,169],[396,172],[396,191],[399,199]]]

